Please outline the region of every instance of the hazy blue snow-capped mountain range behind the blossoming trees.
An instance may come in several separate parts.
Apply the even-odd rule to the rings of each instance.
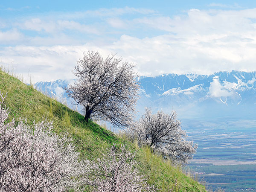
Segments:
[[[72,99],[62,87],[74,81],[38,82],[35,86],[58,100],[66,99],[72,106]],[[144,76],[140,77],[140,85],[139,113],[143,113],[145,107],[151,107],[153,111],[175,110],[181,119],[252,119],[256,116],[256,72]]]

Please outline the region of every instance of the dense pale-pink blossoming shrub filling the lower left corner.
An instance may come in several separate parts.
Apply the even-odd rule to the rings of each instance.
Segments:
[[[79,190],[89,164],[68,137],[52,133],[52,123],[32,127],[25,122],[6,122],[8,110],[0,92],[0,191],[61,192]],[[80,188],[82,189],[82,188]]]

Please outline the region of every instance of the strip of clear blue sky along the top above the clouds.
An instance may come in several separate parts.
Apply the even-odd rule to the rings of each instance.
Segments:
[[[256,2],[253,0],[240,0],[235,1],[235,3],[233,0],[3,0],[0,5],[0,14],[4,17],[13,17],[19,15],[38,14],[43,12],[76,12],[96,10],[100,8],[111,9],[113,7],[122,8],[129,6],[134,8],[154,9],[161,14],[172,16],[175,14],[180,14],[180,12],[186,11],[188,9],[207,9],[213,4],[215,4],[215,7],[218,7],[218,9],[241,9],[252,8],[256,6]],[[10,12],[11,10],[13,12]],[[14,12],[14,10],[19,11]]]

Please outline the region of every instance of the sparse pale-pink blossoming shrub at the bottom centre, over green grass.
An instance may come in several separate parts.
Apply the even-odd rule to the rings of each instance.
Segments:
[[[95,192],[141,192],[153,191],[147,185],[145,177],[139,175],[134,154],[125,149],[125,145],[111,147],[108,154],[92,161],[90,185]]]

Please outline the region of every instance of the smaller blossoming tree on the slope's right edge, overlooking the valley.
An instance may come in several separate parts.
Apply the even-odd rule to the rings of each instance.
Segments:
[[[186,141],[186,132],[181,129],[175,112],[152,114],[151,109],[146,108],[141,119],[129,130],[140,145],[149,145],[174,163],[186,164],[197,148],[192,141]]]

